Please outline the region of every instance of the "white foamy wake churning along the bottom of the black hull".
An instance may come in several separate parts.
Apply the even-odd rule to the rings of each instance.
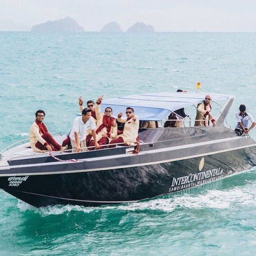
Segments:
[[[256,168],[253,168],[254,170]],[[251,169],[245,175],[247,184],[242,186],[212,187],[207,184],[206,188],[200,186],[191,188],[190,191],[181,191],[176,194],[164,195],[155,199],[143,200],[138,203],[104,205],[100,207],[84,207],[78,205],[54,205],[35,208],[23,201],[18,201],[20,211],[34,211],[41,216],[69,214],[72,211],[80,211],[85,214],[95,211],[167,211],[173,212],[180,209],[229,209],[237,210],[244,207],[256,206],[256,179]],[[235,176],[233,176],[235,177]],[[238,177],[238,176],[236,176]],[[227,179],[226,179],[227,180]],[[232,185],[232,179],[228,181]],[[223,184],[221,185],[223,186]]]

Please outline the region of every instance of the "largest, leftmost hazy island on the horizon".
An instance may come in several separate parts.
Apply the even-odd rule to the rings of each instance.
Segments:
[[[79,26],[75,19],[66,17],[53,22],[48,21],[39,25],[35,25],[31,29],[32,32],[84,32],[83,27]]]

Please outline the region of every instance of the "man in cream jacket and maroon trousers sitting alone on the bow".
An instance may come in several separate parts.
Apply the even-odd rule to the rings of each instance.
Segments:
[[[30,146],[34,152],[64,151],[68,146],[60,146],[48,133],[46,125],[42,122],[45,119],[45,111],[37,110],[35,113],[35,122],[30,128]]]

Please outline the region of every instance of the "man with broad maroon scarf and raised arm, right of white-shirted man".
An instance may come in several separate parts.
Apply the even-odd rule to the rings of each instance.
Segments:
[[[116,119],[112,116],[112,108],[106,107],[104,114],[100,111],[100,104],[103,100],[103,95],[100,96],[96,101],[96,118],[97,118],[97,141],[100,145],[98,148],[101,149],[103,146],[109,144],[111,139],[115,139],[117,136],[117,123]],[[89,150],[93,150],[91,146],[94,145],[94,139],[90,141],[90,148]]]

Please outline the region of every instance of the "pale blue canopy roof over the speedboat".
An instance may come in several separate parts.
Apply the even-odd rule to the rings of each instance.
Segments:
[[[162,121],[171,112],[186,108],[204,101],[207,93],[191,93],[191,92],[162,92],[162,93],[146,93],[139,95],[128,95],[119,98],[103,100],[101,111],[110,106],[113,110],[113,116],[122,112],[125,116],[127,106],[134,109],[135,115],[141,121]],[[210,94],[213,101],[228,100],[229,95]]]

